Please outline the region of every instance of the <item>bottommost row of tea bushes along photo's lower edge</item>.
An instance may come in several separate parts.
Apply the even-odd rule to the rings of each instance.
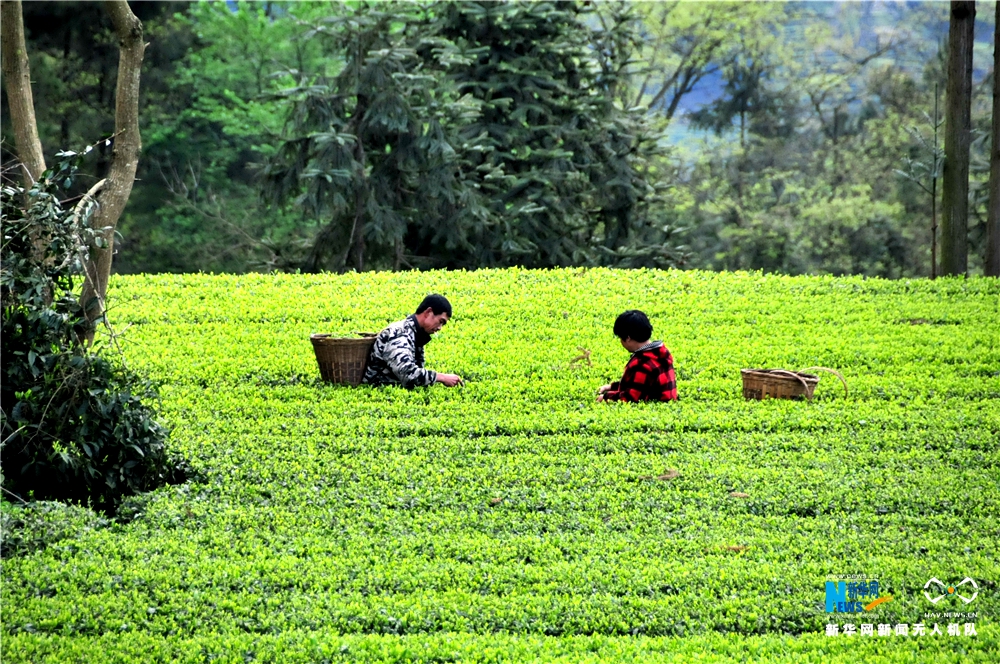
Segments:
[[[960,637],[964,638],[964,637]],[[278,636],[211,635],[191,639],[158,639],[142,634],[68,639],[30,635],[12,645],[39,664],[150,663],[244,664],[245,662],[804,662],[807,664],[873,664],[934,662],[990,664],[998,647],[996,634],[980,633],[969,642],[942,649],[918,639],[851,638],[781,635],[742,636],[707,633],[688,637],[615,638],[607,636],[481,636],[438,633],[414,636],[344,635],[289,632]],[[985,642],[986,648],[983,647]],[[987,649],[988,648],[988,649]]]

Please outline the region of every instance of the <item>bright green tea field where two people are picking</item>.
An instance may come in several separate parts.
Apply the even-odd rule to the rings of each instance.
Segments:
[[[310,333],[428,292],[455,307],[428,366],[464,387],[319,382]],[[199,475],[115,522],[5,503],[33,524],[5,664],[1000,661],[995,279],[160,275],[110,303]],[[679,403],[595,403],[628,308]],[[742,397],[740,368],[816,365],[849,396]],[[891,600],[827,613],[852,574]],[[932,604],[932,577],[978,595]]]

